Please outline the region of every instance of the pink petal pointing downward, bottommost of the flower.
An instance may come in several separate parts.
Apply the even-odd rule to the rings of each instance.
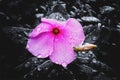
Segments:
[[[62,35],[56,36],[53,53],[50,55],[51,61],[66,67],[74,58],[74,51],[69,42],[67,42]]]

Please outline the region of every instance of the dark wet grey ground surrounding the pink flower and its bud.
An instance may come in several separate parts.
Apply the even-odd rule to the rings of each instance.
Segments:
[[[0,0],[0,80],[119,80],[119,15],[118,0]],[[42,17],[76,18],[84,43],[98,47],[78,52],[67,69],[33,57],[25,45]]]

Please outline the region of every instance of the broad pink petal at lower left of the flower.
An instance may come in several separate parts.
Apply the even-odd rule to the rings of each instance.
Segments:
[[[30,38],[27,43],[27,49],[34,56],[46,58],[53,52],[54,36],[48,33],[41,33],[35,38]]]

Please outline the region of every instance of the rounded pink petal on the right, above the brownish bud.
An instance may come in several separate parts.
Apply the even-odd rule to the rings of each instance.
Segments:
[[[83,43],[85,39],[84,31],[82,25],[76,19],[68,19],[66,21],[64,29],[64,34],[73,47],[79,46]]]

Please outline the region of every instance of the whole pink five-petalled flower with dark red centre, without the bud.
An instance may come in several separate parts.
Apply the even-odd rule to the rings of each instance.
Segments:
[[[29,52],[38,58],[49,56],[53,63],[66,67],[75,59],[73,47],[82,44],[85,35],[74,18],[65,22],[42,18],[29,37],[26,47]]]

